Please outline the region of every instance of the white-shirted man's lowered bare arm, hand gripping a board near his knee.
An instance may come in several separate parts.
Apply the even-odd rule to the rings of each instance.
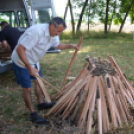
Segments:
[[[21,44],[18,45],[17,49],[16,49],[19,58],[22,60],[22,62],[25,64],[25,67],[27,68],[27,70],[29,71],[29,74],[32,76],[37,76],[38,75],[38,70],[33,68],[26,57],[26,53],[25,53],[25,47],[22,46]]]

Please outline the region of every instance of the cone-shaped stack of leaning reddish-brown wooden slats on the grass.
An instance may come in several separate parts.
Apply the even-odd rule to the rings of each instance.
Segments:
[[[70,117],[79,128],[86,128],[86,134],[92,131],[94,115],[99,134],[132,122],[129,104],[134,107],[134,88],[113,57],[101,60],[88,56],[86,60],[78,76],[53,96],[57,103],[45,117]]]

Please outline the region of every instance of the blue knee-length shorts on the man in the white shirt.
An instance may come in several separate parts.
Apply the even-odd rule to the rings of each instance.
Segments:
[[[35,80],[36,78],[31,76],[27,69],[17,66],[14,62],[12,64],[17,83],[22,88],[31,88],[31,79]],[[39,70],[39,75],[42,77],[41,70]]]

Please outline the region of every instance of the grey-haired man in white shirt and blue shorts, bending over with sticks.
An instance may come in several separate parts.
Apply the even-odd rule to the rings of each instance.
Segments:
[[[63,19],[56,17],[53,18],[49,24],[38,24],[30,27],[20,37],[18,45],[12,53],[13,69],[17,78],[17,82],[23,88],[23,99],[30,110],[31,121],[36,123],[45,123],[45,119],[40,117],[33,109],[31,102],[31,79],[35,82],[35,93],[38,101],[38,110],[50,108],[54,105],[43,102],[42,92],[38,85],[35,76],[41,75],[39,66],[39,59],[43,57],[50,47],[55,49],[69,49],[73,48],[78,50],[77,45],[72,44],[60,44],[58,36],[66,28],[66,24]],[[24,65],[21,66],[18,61],[21,61]]]

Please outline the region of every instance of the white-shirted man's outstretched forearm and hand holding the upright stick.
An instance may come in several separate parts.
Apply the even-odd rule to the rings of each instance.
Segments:
[[[57,47],[55,47],[55,49],[75,49],[75,50],[79,50],[80,48],[77,45],[74,44],[59,44]]]

